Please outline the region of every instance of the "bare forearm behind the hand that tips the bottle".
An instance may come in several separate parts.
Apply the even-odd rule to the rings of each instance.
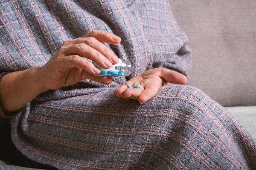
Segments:
[[[48,90],[40,83],[39,69],[12,72],[1,79],[0,105],[4,112],[19,110]]]

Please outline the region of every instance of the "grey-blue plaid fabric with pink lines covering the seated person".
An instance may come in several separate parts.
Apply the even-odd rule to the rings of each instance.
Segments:
[[[131,77],[165,67],[187,75],[186,35],[162,0],[0,1],[0,71],[44,65],[64,40],[94,29],[132,63]],[[40,94],[12,118],[28,158],[58,169],[255,169],[256,147],[241,125],[197,88],[164,85],[141,105],[90,80]]]

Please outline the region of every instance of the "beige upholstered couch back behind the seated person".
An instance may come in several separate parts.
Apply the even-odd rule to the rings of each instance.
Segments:
[[[189,37],[189,85],[224,106],[256,105],[256,0],[170,0]]]

